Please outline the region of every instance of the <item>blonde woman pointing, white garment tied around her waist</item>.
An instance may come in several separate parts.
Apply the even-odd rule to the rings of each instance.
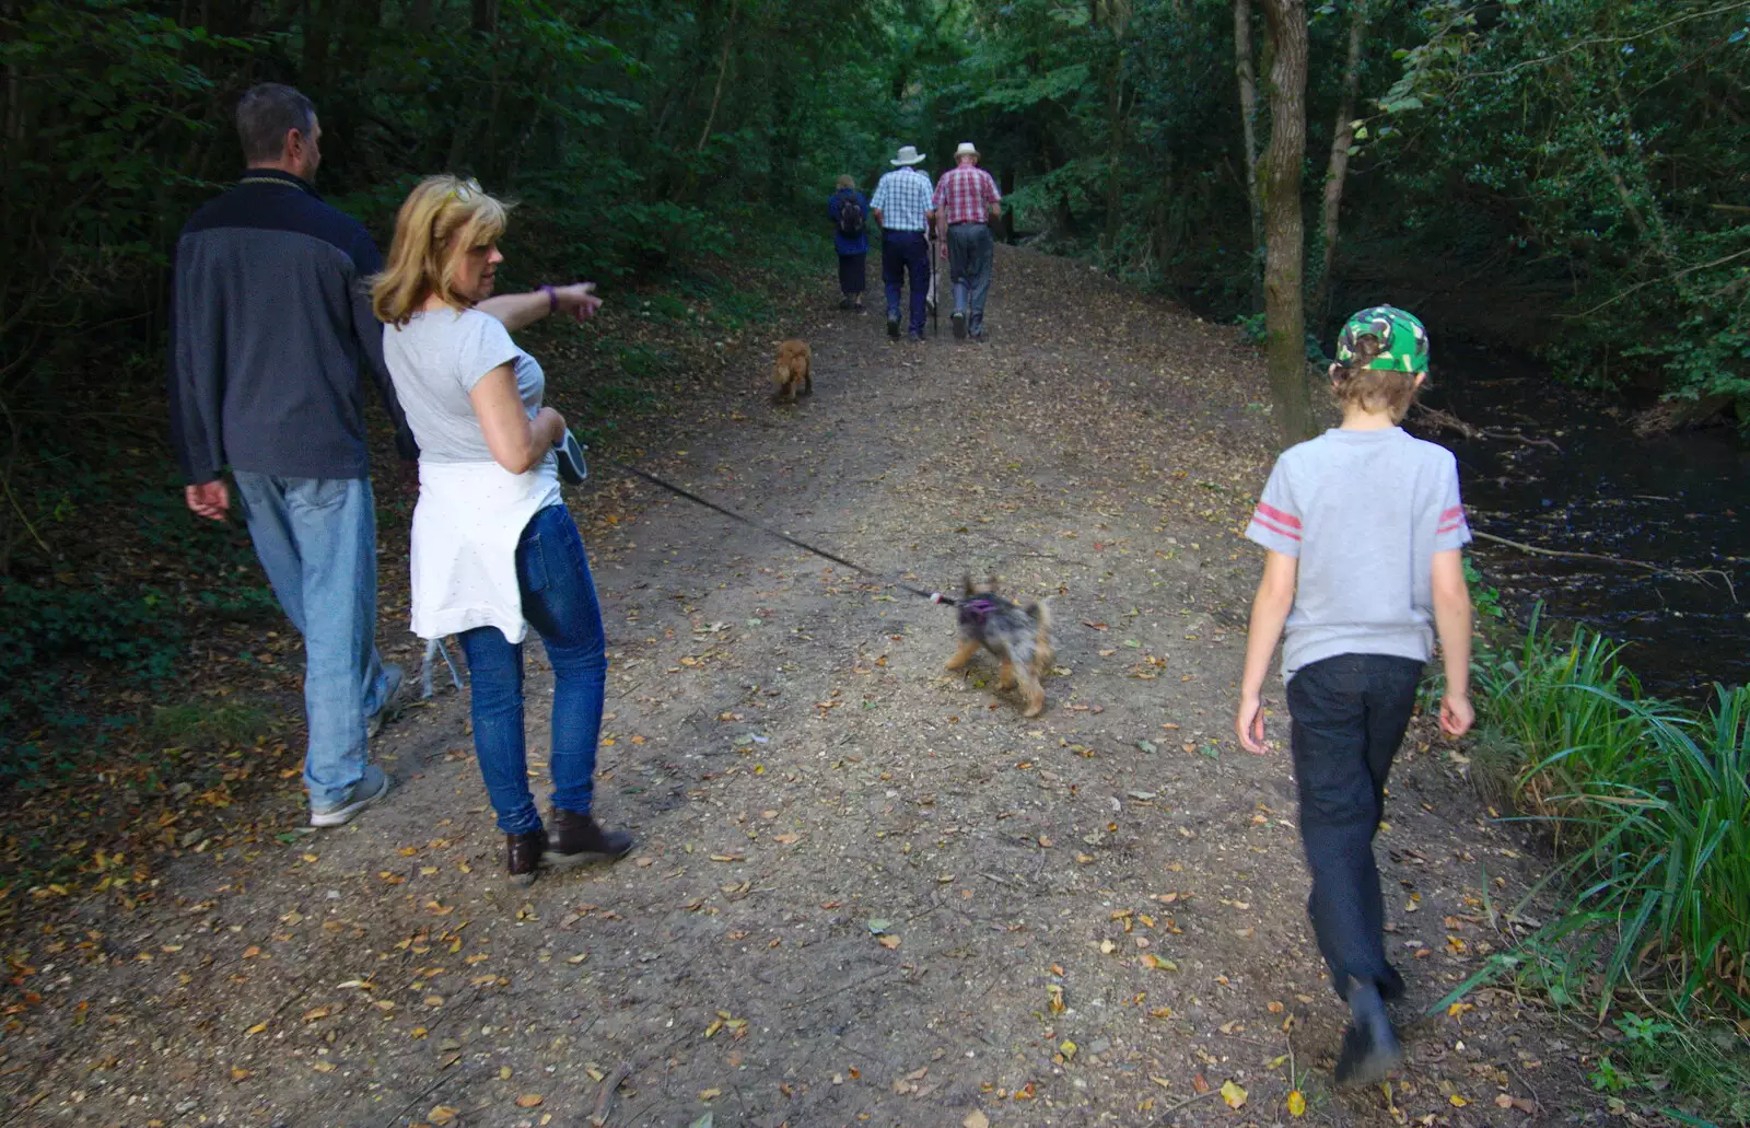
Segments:
[[[413,510],[413,632],[458,636],[472,681],[474,753],[506,835],[513,881],[537,865],[618,858],[632,835],[590,814],[607,659],[578,525],[560,497],[565,419],[511,331],[595,314],[595,286],[494,296],[508,207],[474,180],[430,177],[401,205],[371,289],[383,356],[420,443]],[[553,662],[553,827],[528,793],[523,636]]]

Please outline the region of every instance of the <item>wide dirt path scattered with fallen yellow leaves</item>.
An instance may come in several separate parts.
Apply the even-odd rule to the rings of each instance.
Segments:
[[[620,1067],[621,1126],[1264,1124],[1295,1086],[1332,1124],[1598,1107],[1507,993],[1414,1023],[1489,951],[1508,890],[1482,881],[1521,883],[1426,748],[1381,848],[1412,1068],[1330,1093],[1286,757],[1228,734],[1269,461],[1230,331],[1008,250],[985,347],[782,329],[814,343],[814,398],[770,403],[751,357],[648,464],[919,587],[1050,596],[1046,713],[989,664],[942,673],[948,611],[640,487],[635,520],[584,531],[597,804],[634,857],[509,886],[466,699],[439,695],[380,739],[382,809],[16,939],[38,1002],[0,1046],[0,1124],[581,1128]]]

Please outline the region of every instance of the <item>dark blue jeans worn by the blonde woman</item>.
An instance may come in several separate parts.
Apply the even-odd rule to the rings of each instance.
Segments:
[[[590,559],[564,504],[528,518],[516,545],[516,583],[523,618],[541,634],[553,662],[553,806],[588,814],[607,694],[607,639]],[[474,627],[460,641],[474,687],[474,757],[499,830],[539,830],[523,736],[523,648],[497,627]]]

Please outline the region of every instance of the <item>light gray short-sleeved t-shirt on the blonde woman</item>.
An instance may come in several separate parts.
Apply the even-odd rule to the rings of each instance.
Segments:
[[[492,314],[424,310],[404,326],[383,326],[383,359],[422,459],[494,461],[469,392],[499,364],[516,371],[516,392],[528,419],[541,412],[546,375]]]

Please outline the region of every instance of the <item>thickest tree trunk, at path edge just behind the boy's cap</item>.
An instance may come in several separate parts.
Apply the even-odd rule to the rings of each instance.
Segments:
[[[1300,217],[1300,165],[1307,154],[1306,0],[1264,0],[1270,28],[1270,151],[1265,168],[1264,324],[1269,335],[1270,401],[1283,443],[1298,443],[1312,426],[1307,394]]]

